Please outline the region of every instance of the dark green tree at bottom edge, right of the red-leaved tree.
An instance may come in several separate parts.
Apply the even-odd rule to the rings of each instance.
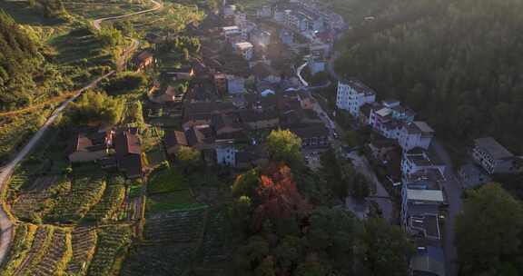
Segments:
[[[365,263],[370,275],[403,276],[408,274],[414,246],[405,232],[381,218],[365,222]]]

